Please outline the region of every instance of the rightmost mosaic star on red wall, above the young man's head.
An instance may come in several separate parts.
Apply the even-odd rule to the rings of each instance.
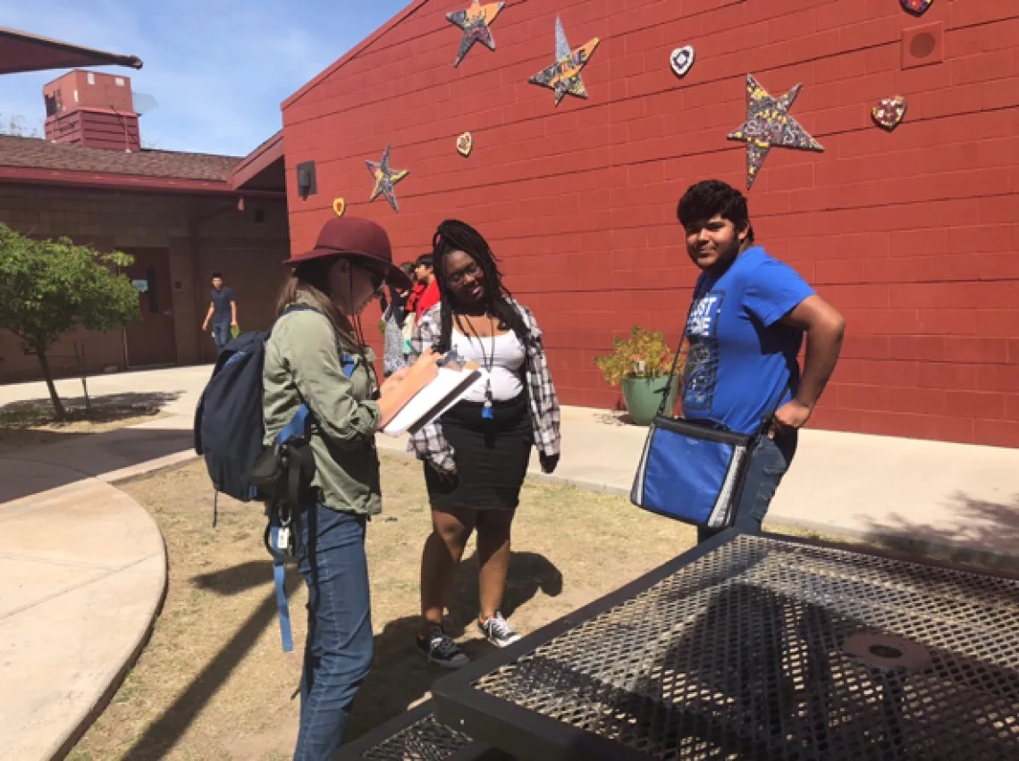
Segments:
[[[747,144],[748,191],[753,187],[772,147],[824,150],[789,113],[802,87],[797,85],[782,98],[772,98],[752,74],[747,74],[747,120],[729,135],[729,140]]]

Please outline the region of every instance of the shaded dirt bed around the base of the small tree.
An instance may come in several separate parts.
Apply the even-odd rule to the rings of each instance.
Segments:
[[[176,395],[117,394],[65,399],[66,418],[57,420],[48,400],[15,401],[0,407],[0,454],[105,433],[163,418],[163,406]]]

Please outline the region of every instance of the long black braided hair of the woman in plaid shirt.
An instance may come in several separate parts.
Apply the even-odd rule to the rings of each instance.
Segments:
[[[442,222],[432,237],[432,257],[435,277],[439,283],[439,300],[442,305],[438,351],[448,351],[452,342],[452,317],[457,308],[455,296],[449,289],[446,274],[446,257],[454,251],[467,254],[481,268],[485,276],[483,306],[493,318],[498,320],[501,330],[512,330],[524,346],[532,342],[524,318],[509,300],[513,294],[502,283],[498,260],[488,241],[467,222],[447,219]]]

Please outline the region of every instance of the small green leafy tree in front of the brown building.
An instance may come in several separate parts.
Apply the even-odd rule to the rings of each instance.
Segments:
[[[59,420],[65,413],[46,352],[78,327],[107,331],[141,319],[138,290],[117,271],[133,261],[66,237],[34,240],[0,222],[0,328],[38,358]]]

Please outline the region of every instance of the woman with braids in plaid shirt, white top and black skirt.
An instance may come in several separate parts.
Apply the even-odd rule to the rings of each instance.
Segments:
[[[465,222],[446,220],[432,239],[439,304],[424,315],[411,342],[414,358],[428,348],[455,351],[487,371],[465,398],[411,439],[424,460],[432,533],[421,561],[422,624],[417,645],[445,668],[468,658],[442,628],[457,565],[478,532],[478,628],[505,647],[520,635],[499,608],[509,566],[509,528],[520,502],[531,449],[541,468],[558,464],[559,404],[541,330],[531,311],[502,284],[492,250]]]

